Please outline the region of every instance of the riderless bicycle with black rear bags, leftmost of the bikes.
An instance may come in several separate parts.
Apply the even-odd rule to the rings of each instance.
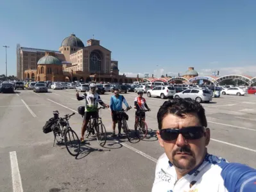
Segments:
[[[78,154],[80,153],[80,140],[76,132],[69,125],[69,118],[71,118],[71,116],[73,116],[75,113],[72,113],[71,115],[65,115],[63,118],[58,117],[58,111],[53,111],[53,114],[55,115],[55,117],[52,118],[53,125],[51,126],[53,135],[55,136],[55,140],[53,141],[53,147],[56,140],[58,144],[62,144],[64,140],[65,147],[67,148],[69,154],[71,154],[71,156],[78,156]],[[73,137],[73,141],[75,143],[74,146],[72,144],[73,142],[71,141],[71,136]],[[60,141],[58,141],[58,139],[60,139]],[[71,149],[68,147],[68,141],[71,141],[71,148],[74,148],[74,152],[71,152]]]

